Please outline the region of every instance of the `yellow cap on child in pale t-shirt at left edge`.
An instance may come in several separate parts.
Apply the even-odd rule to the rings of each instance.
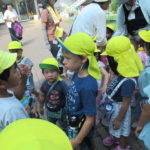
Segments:
[[[10,68],[17,59],[17,54],[0,51],[0,74]]]

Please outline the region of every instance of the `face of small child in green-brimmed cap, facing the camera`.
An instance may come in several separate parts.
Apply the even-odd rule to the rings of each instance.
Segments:
[[[43,75],[48,83],[53,83],[59,76],[59,72],[56,70],[44,69]]]

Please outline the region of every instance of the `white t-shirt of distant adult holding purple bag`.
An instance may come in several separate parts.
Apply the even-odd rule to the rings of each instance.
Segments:
[[[16,18],[18,18],[18,15],[17,15],[17,12],[15,9],[12,9],[12,11],[10,11],[10,10],[5,11],[4,18],[3,18],[4,20],[5,19],[16,19]],[[7,24],[8,28],[11,28],[12,22],[6,21],[6,24]]]

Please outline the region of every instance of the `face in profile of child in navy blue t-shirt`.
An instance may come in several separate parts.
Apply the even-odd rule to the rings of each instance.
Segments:
[[[74,55],[72,53],[63,51],[64,61],[63,64],[65,65],[65,68],[70,71],[78,71],[81,67],[82,59]]]

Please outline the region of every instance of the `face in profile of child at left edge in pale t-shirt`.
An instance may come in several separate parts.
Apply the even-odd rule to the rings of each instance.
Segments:
[[[6,81],[7,83],[7,88],[13,88],[18,86],[19,82],[21,80],[21,75],[20,72],[17,68],[17,65],[14,64],[11,68],[10,68],[10,75],[8,78],[8,81]]]

